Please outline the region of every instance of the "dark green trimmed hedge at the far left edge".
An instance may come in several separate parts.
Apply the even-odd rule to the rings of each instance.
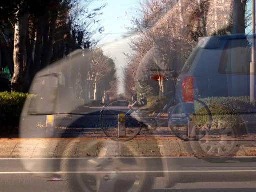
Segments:
[[[0,127],[17,127],[28,93],[0,92]]]

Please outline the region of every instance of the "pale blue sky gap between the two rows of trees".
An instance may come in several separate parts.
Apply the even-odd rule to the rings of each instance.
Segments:
[[[97,8],[107,4],[102,9],[103,14],[99,17],[101,25],[104,26],[103,34],[96,33],[93,38],[100,39],[98,47],[101,47],[104,54],[115,61],[116,76],[119,78],[119,92],[124,92],[121,78],[122,70],[127,65],[127,58],[123,53],[132,52],[129,43],[136,33],[130,34],[127,27],[132,26],[132,18],[139,16],[141,0],[92,0],[89,8]]]

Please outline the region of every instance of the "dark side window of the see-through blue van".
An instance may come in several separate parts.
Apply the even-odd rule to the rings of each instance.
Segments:
[[[225,44],[218,71],[221,74],[250,74],[251,45],[247,39],[231,39]]]

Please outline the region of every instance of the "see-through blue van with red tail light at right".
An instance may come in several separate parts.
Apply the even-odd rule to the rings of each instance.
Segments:
[[[253,132],[256,108],[249,101],[251,38],[245,34],[201,38],[177,78],[175,106],[194,99],[204,101],[212,112],[211,134],[216,136],[236,137]],[[202,144],[196,143],[194,148],[202,152]],[[225,148],[222,154],[221,147]],[[227,143],[208,142],[203,153],[216,155],[218,151],[218,155],[229,155],[233,148],[230,146],[228,151]]]

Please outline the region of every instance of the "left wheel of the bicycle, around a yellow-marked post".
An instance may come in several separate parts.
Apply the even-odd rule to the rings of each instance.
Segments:
[[[129,102],[117,100],[105,106],[100,114],[100,125],[105,135],[115,141],[129,141],[135,138],[142,129],[142,124],[130,116],[134,111],[128,108]],[[120,131],[121,125],[124,127]],[[121,134],[121,136],[120,136]]]

